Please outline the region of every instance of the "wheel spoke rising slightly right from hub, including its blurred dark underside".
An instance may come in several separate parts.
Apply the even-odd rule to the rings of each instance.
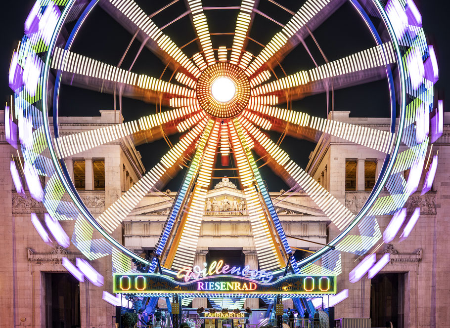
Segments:
[[[295,100],[310,94],[362,84],[386,77],[385,67],[395,63],[394,48],[386,42],[353,55],[329,62],[309,71],[258,86],[252,96],[274,94]]]

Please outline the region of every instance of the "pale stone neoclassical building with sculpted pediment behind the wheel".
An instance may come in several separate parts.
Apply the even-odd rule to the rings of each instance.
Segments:
[[[349,112],[335,112],[333,119],[377,129],[389,127],[388,119],[351,118]],[[98,117],[60,118],[59,121],[62,133],[70,134],[117,123],[119,117],[114,117],[113,111],[101,111]],[[449,143],[450,116],[446,115],[444,135],[433,145],[439,149],[440,161],[433,189],[423,196],[419,190],[407,203],[408,212],[421,208],[419,222],[405,242],[395,239],[392,244],[376,248],[377,257],[390,252],[391,260],[372,280],[350,283],[349,272],[360,258],[353,254],[343,256],[338,290],[349,289],[349,298],[336,306],[336,318],[371,317],[373,327],[386,327],[386,321],[405,328],[443,327],[450,322]],[[65,249],[43,243],[30,221],[30,214],[43,215],[45,208],[13,190],[9,173],[12,152],[14,148],[1,134],[0,307],[7,315],[1,316],[0,327],[51,327],[50,322],[57,321],[60,315],[56,309],[70,309],[64,316],[73,317],[71,322],[79,319],[81,327],[111,327],[115,309],[101,299],[102,290],[112,291],[110,258],[92,262],[105,278],[103,288],[78,284],[68,276],[61,258],[83,256],[73,246]],[[357,212],[375,183],[382,159],[374,150],[327,137],[320,139],[310,154],[306,170],[339,201]],[[102,145],[65,162],[81,198],[94,216],[113,204],[145,172],[131,139]],[[225,259],[232,256],[232,260],[257,266],[243,192],[226,177],[210,188],[194,264],[217,256]],[[170,190],[149,193],[114,231],[114,238],[141,256],[149,256],[175,195],[176,191]],[[286,235],[299,238],[291,239],[290,245],[306,250],[298,250],[296,256],[307,256],[308,251],[320,247],[310,241],[326,244],[337,235],[326,215],[303,192],[272,191],[270,197]],[[377,219],[383,229],[390,217]],[[264,306],[257,299],[246,302],[252,308]],[[286,301],[286,307],[292,308],[291,304]],[[199,298],[190,306],[207,305],[206,299]]]

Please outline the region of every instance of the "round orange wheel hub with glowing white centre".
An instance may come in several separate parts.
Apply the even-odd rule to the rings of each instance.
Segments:
[[[197,99],[210,116],[228,119],[237,116],[250,99],[250,82],[236,65],[218,62],[208,66],[197,81]]]

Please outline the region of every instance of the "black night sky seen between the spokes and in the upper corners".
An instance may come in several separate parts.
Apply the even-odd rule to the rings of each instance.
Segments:
[[[34,0],[18,0],[8,1],[7,4],[2,4],[3,17],[3,33],[1,39],[3,44],[3,51],[0,58],[0,94],[3,101],[8,101],[12,91],[8,87],[8,68],[11,59],[12,51],[17,46],[18,41],[23,36],[23,23],[33,6]],[[159,9],[163,2],[156,0],[136,0],[136,2],[144,9],[146,13],[152,13]],[[293,11],[297,11],[301,6],[301,1],[278,1],[283,3],[286,7]],[[447,17],[447,10],[444,9],[444,0],[415,0],[419,10],[422,13],[423,26],[429,43],[433,44],[438,56],[440,79],[436,84],[437,93],[440,99],[445,99],[445,92],[449,90],[449,68],[446,57],[449,55],[449,28],[445,24]],[[239,0],[217,1],[204,0],[204,5],[239,5]],[[260,0],[259,9],[263,12],[270,13],[270,16],[281,23],[286,23],[290,15],[285,11],[274,6],[267,0]],[[164,11],[164,14],[156,15],[153,20],[158,26],[163,26],[169,21],[180,15],[185,10],[183,1],[179,1],[175,5],[169,7]],[[221,10],[206,11],[210,32],[234,31],[237,11]],[[253,22],[250,37],[265,44],[270,41],[273,34],[279,31],[279,26],[271,23],[267,19],[256,15]],[[186,41],[195,38],[195,31],[193,30],[190,18],[188,16],[182,18],[176,24],[169,26],[164,30],[176,44],[179,46]],[[345,3],[339,8],[328,20],[326,20],[314,32],[314,36],[324,51],[328,60],[335,60],[343,56],[352,54],[354,52],[366,49],[374,45],[367,28],[362,24],[359,15],[353,9],[350,3]],[[108,64],[117,65],[123,52],[127,48],[131,35],[123,29],[114,19],[106,14],[100,7],[93,9],[91,16],[83,25],[81,31],[77,35],[76,41],[72,47],[73,51],[79,52],[83,55],[90,56],[97,60],[104,61]],[[232,37],[213,37],[213,47],[217,48],[220,45],[231,46]],[[320,53],[312,41],[312,38],[305,40],[310,48],[315,60],[318,64],[323,64],[324,61]],[[128,69],[132,63],[135,53],[140,46],[140,42],[135,41],[129,54],[125,57],[122,68]],[[261,51],[261,47],[256,43],[250,42],[247,49],[254,54]],[[191,43],[183,49],[188,56],[191,56],[198,51],[196,43]],[[302,45],[298,46],[294,51],[289,53],[282,62],[282,67],[287,74],[295,73],[302,69],[310,69],[314,67],[312,60],[309,58],[307,52]],[[159,77],[164,70],[164,65],[161,61],[147,48],[142,50],[142,53],[137,58],[132,71],[138,74],[146,74],[149,76]],[[280,68],[275,69],[277,75],[282,76]],[[164,78],[168,78],[167,75]],[[370,99],[370,101],[367,101]],[[351,110],[351,116],[373,116],[373,117],[387,117],[389,115],[389,96],[387,93],[387,82],[378,81],[371,82],[351,88],[337,90],[335,92],[335,110]],[[281,106],[280,106],[281,107]],[[326,116],[326,97],[325,94],[310,96],[305,99],[295,101],[293,108],[299,111],[307,112],[315,116]],[[105,93],[98,93],[88,91],[73,86],[62,86],[60,90],[60,115],[62,116],[98,116],[100,109],[113,109],[113,96]],[[153,104],[144,103],[140,100],[123,98],[123,113],[125,119],[133,120],[155,113],[156,106]],[[272,140],[276,142],[279,135],[270,133]],[[171,141],[177,142],[179,135],[171,136]],[[314,149],[315,144],[305,141],[285,137],[281,147],[291,156],[293,160],[305,167],[308,163],[308,156]],[[156,164],[161,156],[168,150],[168,146],[164,140],[155,141],[150,144],[138,146],[138,150],[142,154],[142,161],[146,169],[150,169]],[[231,162],[232,163],[232,162]],[[258,161],[258,164],[263,164]],[[219,165],[220,167],[220,165]],[[279,178],[274,175],[268,166],[261,167],[263,178],[266,179],[270,191],[279,191],[280,189],[287,189],[287,186]],[[169,182],[166,188],[178,190],[180,181],[182,179],[181,172],[176,179]],[[220,170],[214,173],[216,178],[221,178],[224,175],[236,175],[234,171]],[[214,180],[216,184],[219,180]],[[237,183],[233,179],[234,183]]]

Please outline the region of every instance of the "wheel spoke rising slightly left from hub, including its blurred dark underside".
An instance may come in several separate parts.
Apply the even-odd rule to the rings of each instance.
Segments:
[[[78,53],[56,47],[51,68],[63,72],[62,82],[82,88],[169,105],[173,96],[193,98],[195,91],[184,86],[136,74]]]

